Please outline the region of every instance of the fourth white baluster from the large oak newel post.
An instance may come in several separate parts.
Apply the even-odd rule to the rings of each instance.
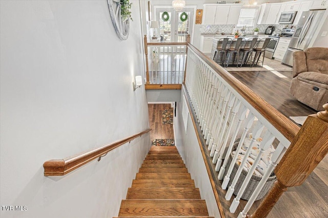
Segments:
[[[242,132],[242,135],[241,135],[241,138],[240,138],[240,141],[238,143],[238,146],[237,146],[237,149],[236,149],[236,154],[239,153],[240,151],[240,148],[242,146],[242,143],[244,142],[245,140],[245,137],[249,131],[249,129],[252,127],[253,125],[253,122],[254,122],[254,118],[255,116],[250,113],[247,117],[247,120],[246,120],[246,126],[244,128],[244,131]],[[237,155],[235,155],[231,161],[231,164],[230,164],[230,167],[228,169],[228,172],[227,172],[227,175],[224,177],[224,180],[222,182],[222,189],[226,189],[227,186],[228,186],[228,183],[229,183],[229,180],[230,180],[230,175],[231,175],[231,172],[232,172],[232,169],[234,168],[234,163],[236,162],[237,160]],[[234,190],[232,190],[232,193],[234,192]],[[232,193],[231,193],[231,196],[232,196]],[[230,199],[230,198],[229,198]]]

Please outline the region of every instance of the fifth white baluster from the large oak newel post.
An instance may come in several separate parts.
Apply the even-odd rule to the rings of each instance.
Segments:
[[[238,105],[241,105],[241,102],[239,102]],[[235,110],[234,110],[233,113],[236,114],[236,112],[238,111],[238,108],[239,108],[239,106],[235,108]],[[245,118],[246,111],[247,111],[247,108],[246,108],[245,106],[242,105],[241,108],[240,108],[240,112],[238,113],[239,115],[238,115],[238,123],[237,123],[237,126],[236,126],[236,128],[235,128],[235,130],[234,130],[234,134],[233,134],[232,139],[231,139],[231,141],[230,141],[230,144],[229,144],[229,148],[228,148],[228,151],[227,151],[226,157],[224,157],[223,164],[222,164],[222,166],[221,166],[221,168],[220,168],[220,172],[219,172],[219,175],[218,175],[218,179],[219,179],[219,180],[222,180],[223,175],[224,175],[224,172],[226,172],[226,166],[227,166],[227,163],[228,163],[228,160],[229,160],[229,156],[230,156],[230,154],[231,154],[231,152],[232,152],[232,147],[233,147],[233,145],[234,145],[234,143],[235,143],[235,140],[236,140],[236,138],[237,138],[237,134],[238,134],[238,132],[239,132],[239,129],[240,129],[241,123],[242,123],[242,121],[243,121],[244,118]],[[233,120],[232,120],[232,122],[233,122]],[[232,122],[231,122],[231,123],[232,123]],[[230,127],[230,126],[229,126],[229,127]],[[231,127],[232,127],[232,125],[231,125]],[[216,164],[216,165],[215,165],[215,170],[218,171],[219,167],[220,167],[220,166],[219,166],[218,164]]]

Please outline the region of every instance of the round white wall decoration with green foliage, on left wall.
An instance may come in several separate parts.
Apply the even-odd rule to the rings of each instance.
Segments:
[[[107,0],[109,13],[115,32],[121,40],[126,40],[130,31],[131,5],[130,0]]]

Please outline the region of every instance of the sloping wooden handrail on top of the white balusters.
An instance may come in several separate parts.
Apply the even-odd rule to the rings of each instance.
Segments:
[[[229,83],[230,86],[232,86],[265,119],[267,119],[284,137],[286,137],[289,141],[293,141],[298,131],[300,130],[300,127],[294,124],[287,117],[283,116],[269,103],[261,99],[260,96],[255,94],[250,88],[229,74],[229,72],[222,70],[221,66],[200,52],[195,46],[189,43],[188,47],[188,49],[196,53],[204,62],[213,68],[218,75],[220,75],[227,83]]]

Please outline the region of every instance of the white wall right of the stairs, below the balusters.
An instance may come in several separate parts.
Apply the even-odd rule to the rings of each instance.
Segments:
[[[219,218],[221,215],[190,115],[188,116],[187,134],[185,132],[182,121],[183,98],[185,97],[183,96],[183,91],[181,91],[181,99],[177,102],[177,115],[173,120],[175,144],[183,161],[186,163],[191,178],[195,180],[195,185],[199,188],[201,199],[206,200],[209,215]]]

